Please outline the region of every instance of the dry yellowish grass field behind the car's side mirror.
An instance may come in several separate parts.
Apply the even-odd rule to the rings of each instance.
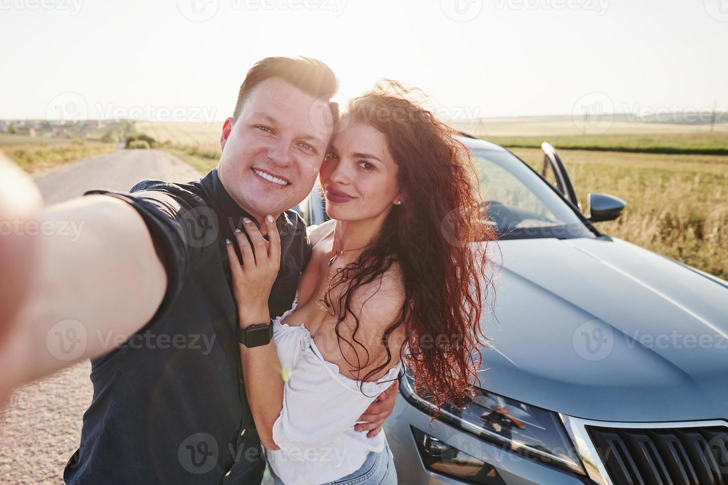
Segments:
[[[510,150],[542,169],[542,151]],[[588,193],[627,201],[617,220],[596,223],[600,231],[728,279],[728,156],[559,153],[585,212]]]

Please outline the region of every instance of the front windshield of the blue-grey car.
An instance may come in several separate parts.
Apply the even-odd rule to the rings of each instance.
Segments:
[[[596,237],[574,211],[513,153],[475,148],[480,195],[499,239]]]

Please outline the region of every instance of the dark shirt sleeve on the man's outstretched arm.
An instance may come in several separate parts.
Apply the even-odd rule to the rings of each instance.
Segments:
[[[151,321],[157,321],[167,313],[179,294],[189,262],[194,257],[195,245],[189,244],[185,223],[202,207],[202,199],[185,191],[175,190],[169,183],[143,180],[130,192],[95,190],[84,196],[100,194],[116,197],[141,215],[149,229],[154,249],[167,273],[167,291]],[[204,212],[204,211],[203,211]]]

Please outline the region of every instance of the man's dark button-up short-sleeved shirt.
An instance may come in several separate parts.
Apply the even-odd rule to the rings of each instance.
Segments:
[[[149,324],[92,359],[93,400],[64,480],[259,484],[265,463],[242,385],[225,248],[225,239],[234,241],[233,230],[250,215],[225,191],[217,169],[185,184],[142,180],[130,193],[84,195],[91,193],[118,197],[141,214],[168,284]],[[276,225],[281,268],[269,300],[271,316],[293,304],[311,254],[297,212],[284,212]]]

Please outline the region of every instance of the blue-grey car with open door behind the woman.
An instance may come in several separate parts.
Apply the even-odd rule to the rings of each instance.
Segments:
[[[593,223],[558,152],[536,172],[463,137],[499,235],[493,348],[467,409],[432,420],[411,378],[385,424],[400,484],[728,484],[728,283]],[[320,197],[301,204],[321,223]]]

